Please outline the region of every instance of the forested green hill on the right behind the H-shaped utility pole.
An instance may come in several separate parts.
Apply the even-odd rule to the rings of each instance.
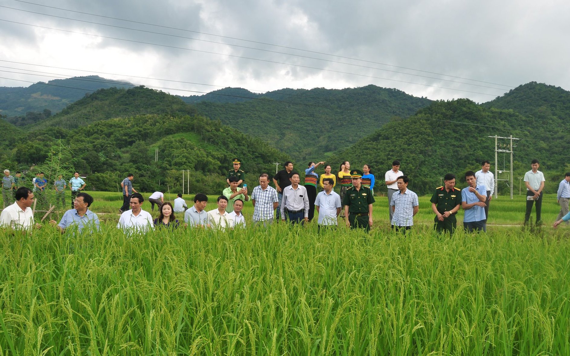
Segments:
[[[556,191],[558,182],[569,170],[564,154],[565,145],[549,144],[544,130],[535,130],[538,119],[525,117],[514,110],[487,109],[468,99],[436,101],[421,109],[416,115],[403,120],[393,120],[382,129],[363,138],[350,148],[335,154],[335,161],[351,161],[360,167],[369,163],[376,177],[384,179],[385,171],[391,168],[394,159],[400,160],[401,170],[410,176],[410,189],[419,194],[430,194],[441,185],[441,177],[455,173],[460,186],[465,186],[462,174],[467,170],[481,169],[481,161],[488,159],[495,169],[495,139],[488,136],[520,138],[514,148],[514,191],[518,194],[518,177],[530,170],[534,158],[541,162],[540,170],[547,177],[547,193]],[[569,122],[561,125],[550,120],[540,122],[545,128],[559,125],[553,135],[564,136],[570,129]],[[507,140],[499,144],[507,144]],[[503,149],[508,149],[502,146]],[[498,169],[507,170],[510,164],[508,153],[499,153]],[[508,179],[506,173],[499,179]],[[498,185],[503,194],[508,194],[505,182]],[[523,183],[523,190],[524,190]]]

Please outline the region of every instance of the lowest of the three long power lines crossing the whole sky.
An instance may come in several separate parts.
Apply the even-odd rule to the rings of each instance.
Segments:
[[[294,67],[307,68],[307,69],[316,69],[316,70],[319,70],[319,71],[327,71],[327,72],[333,72],[333,73],[355,75],[355,76],[368,77],[368,78],[373,78],[373,79],[397,81],[398,83],[424,85],[425,87],[433,87],[433,88],[439,88],[439,89],[447,89],[447,90],[451,90],[451,91],[458,91],[458,92],[465,92],[465,93],[473,93],[473,94],[481,94],[481,95],[488,95],[488,96],[496,96],[496,94],[488,94],[488,93],[474,92],[474,91],[468,91],[468,90],[463,90],[463,89],[447,88],[447,87],[441,87],[441,86],[439,86],[439,85],[415,83],[415,82],[413,82],[413,81],[398,80],[398,79],[389,79],[389,78],[377,77],[377,76],[371,76],[371,75],[365,75],[365,74],[358,74],[358,73],[351,73],[351,72],[344,72],[344,71],[336,71],[336,70],[334,70],[334,69],[318,68],[318,67],[311,67],[311,66],[302,66],[301,64],[292,64],[292,63],[278,62],[278,61],[275,61],[275,60],[259,59],[259,58],[253,58],[253,57],[247,57],[247,56],[238,56],[238,55],[224,54],[224,53],[218,53],[218,52],[212,52],[212,51],[196,50],[196,49],[193,49],[193,48],[170,46],[170,45],[168,45],[168,44],[150,43],[150,42],[137,41],[137,40],[132,40],[132,39],[124,39],[124,38],[117,38],[117,37],[111,37],[111,36],[88,34],[88,33],[86,33],[86,32],[63,30],[62,28],[39,26],[39,25],[37,25],[37,24],[30,24],[30,23],[24,23],[24,22],[18,22],[18,21],[10,21],[10,20],[6,20],[6,19],[0,19],[0,21],[10,22],[10,23],[17,23],[17,24],[23,24],[23,25],[32,26],[32,27],[46,28],[47,30],[69,32],[69,33],[73,33],[73,34],[94,36],[94,37],[99,37],[99,38],[115,39],[115,40],[120,40],[120,41],[125,41],[125,42],[132,42],[132,43],[149,44],[150,46],[160,46],[160,47],[166,47],[166,48],[174,48],[174,49],[177,49],[177,50],[185,50],[185,51],[201,52],[201,53],[214,54],[214,55],[220,55],[220,56],[228,56],[228,57],[233,57],[233,58],[257,60],[257,61],[259,61],[259,62],[266,62],[266,63],[284,64],[284,65],[286,65],[286,66],[294,66]]]

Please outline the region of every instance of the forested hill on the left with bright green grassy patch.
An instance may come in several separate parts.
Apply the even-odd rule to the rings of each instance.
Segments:
[[[136,189],[180,191],[181,170],[190,170],[190,190],[215,194],[225,188],[234,157],[243,160],[252,183],[259,173],[274,169],[270,162],[288,159],[258,138],[194,114],[176,97],[143,87],[101,89],[42,125],[0,124],[5,126],[0,134],[5,136],[0,144],[4,167],[29,170],[48,158],[52,145],[62,144],[73,152],[75,169],[88,176],[87,188],[95,190],[115,190],[133,173]]]

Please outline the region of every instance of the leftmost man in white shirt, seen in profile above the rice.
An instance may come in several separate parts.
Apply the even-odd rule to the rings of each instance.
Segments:
[[[0,226],[14,230],[31,230],[34,225],[34,212],[31,205],[34,202],[34,193],[26,187],[18,188],[14,204],[6,207],[0,214]],[[39,227],[36,224],[36,227]]]

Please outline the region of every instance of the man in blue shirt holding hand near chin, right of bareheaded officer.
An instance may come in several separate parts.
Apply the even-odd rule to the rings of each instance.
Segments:
[[[463,228],[467,232],[487,231],[487,216],[485,215],[485,201],[487,200],[487,187],[478,185],[474,171],[465,173],[467,188],[461,190],[461,207],[465,210],[463,215]]]

